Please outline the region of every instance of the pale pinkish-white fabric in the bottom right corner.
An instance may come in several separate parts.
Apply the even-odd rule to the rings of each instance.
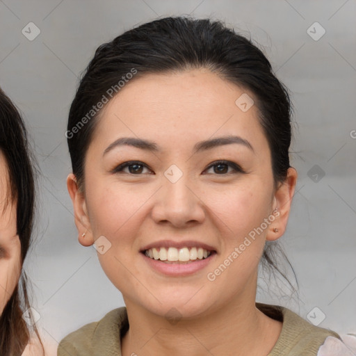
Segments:
[[[342,341],[336,337],[327,337],[317,356],[356,356],[356,334],[345,334],[340,337]]]

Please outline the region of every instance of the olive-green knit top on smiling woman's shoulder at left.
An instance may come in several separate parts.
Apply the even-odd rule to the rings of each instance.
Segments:
[[[101,320],[67,335],[60,341],[57,355],[116,355],[121,348],[120,337],[128,327],[126,307],[114,309]]]

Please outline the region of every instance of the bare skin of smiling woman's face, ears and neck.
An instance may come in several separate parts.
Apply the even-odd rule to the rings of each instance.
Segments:
[[[268,142],[257,108],[245,113],[235,101],[244,92],[209,70],[149,74],[131,81],[102,111],[85,162],[85,188],[74,175],[67,188],[74,204],[79,242],[105,236],[111,248],[98,254],[104,272],[122,292],[130,328],[122,355],[267,355],[282,323],[255,307],[257,267],[266,240],[286,229],[297,172],[273,188]],[[253,98],[253,94],[248,92]],[[236,143],[194,153],[202,140],[241,136],[254,152]],[[103,152],[121,137],[152,140],[160,152],[129,146]],[[245,173],[209,168],[232,161]],[[125,161],[140,161],[140,174],[113,173]],[[172,183],[164,172],[183,172]],[[227,168],[226,168],[227,169]],[[280,215],[213,282],[217,268],[245,236],[279,208]],[[277,227],[279,232],[273,232]],[[85,237],[81,234],[86,233]],[[190,276],[167,277],[140,254],[148,243],[170,239],[207,243],[214,259]],[[175,308],[180,320],[165,318]],[[179,346],[179,347],[177,347]]]

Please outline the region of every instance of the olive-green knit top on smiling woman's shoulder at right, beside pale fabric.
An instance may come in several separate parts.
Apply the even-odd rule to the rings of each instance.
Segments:
[[[316,356],[327,337],[340,339],[336,332],[317,327],[285,307],[261,303],[257,303],[257,307],[267,316],[283,323],[280,337],[269,356]]]

